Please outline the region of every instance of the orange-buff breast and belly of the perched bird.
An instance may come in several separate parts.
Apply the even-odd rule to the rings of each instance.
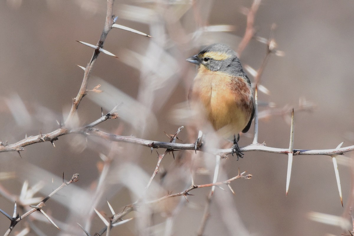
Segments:
[[[203,65],[194,79],[191,99],[199,101],[206,118],[224,137],[241,132],[251,118],[252,91],[247,82]]]

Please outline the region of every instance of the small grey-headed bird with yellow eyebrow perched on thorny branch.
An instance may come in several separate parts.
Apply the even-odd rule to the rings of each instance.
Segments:
[[[198,106],[222,137],[233,137],[231,153],[237,155],[237,160],[242,158],[239,133],[249,131],[255,105],[251,81],[237,53],[225,44],[212,44],[186,61],[196,64],[198,69],[188,92],[190,106]],[[200,138],[195,142],[195,150],[202,144]]]

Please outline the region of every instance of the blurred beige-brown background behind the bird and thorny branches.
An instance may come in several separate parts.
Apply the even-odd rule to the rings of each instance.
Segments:
[[[164,131],[174,133],[179,126],[186,125],[170,119],[174,106],[186,100],[195,74],[195,68],[184,60],[197,53],[203,44],[212,42],[225,42],[237,49],[246,26],[246,16],[241,12],[252,4],[250,0],[210,0],[193,1],[192,6],[191,2],[115,2],[114,12],[119,16],[118,24],[146,32],[154,38],[113,29],[104,48],[116,54],[119,59],[100,54],[88,89],[104,80],[136,98],[152,114],[142,117],[146,123],[141,123],[142,127],[138,129],[122,120],[108,120],[98,128],[167,142]],[[63,120],[63,114],[67,114],[70,109],[72,98],[76,96],[82,81],[83,71],[76,64],[85,66],[92,55],[90,48],[75,40],[94,45],[97,43],[102,32],[105,8],[105,1],[90,0],[0,2],[2,141],[15,143],[24,138],[26,133],[28,136],[37,135],[40,131],[47,133],[57,128],[56,120]],[[354,2],[348,0],[263,0],[259,6],[255,21],[256,35],[268,38],[271,25],[275,23],[277,27],[274,39],[277,49],[285,52],[284,57],[271,55],[261,78],[261,84],[268,88],[270,95],[260,93],[259,100],[273,102],[277,108],[286,105],[297,108],[299,98],[306,98],[316,104],[310,113],[300,111],[295,114],[295,149],[332,149],[343,141],[343,146],[354,143],[353,12]],[[235,30],[229,33],[198,31],[201,26],[219,24],[233,25]],[[264,44],[252,40],[242,53],[241,62],[258,69],[265,51]],[[253,77],[249,77],[253,81]],[[105,92],[110,91],[109,85],[102,90],[102,95],[91,96],[89,93],[82,100],[78,118],[81,125],[98,119],[101,116],[101,107],[108,112],[121,102],[118,95],[115,97],[111,94],[99,104],[92,97],[106,96]],[[120,109],[120,115],[124,116],[125,112],[130,114],[125,110],[124,104]],[[139,113],[135,115],[139,116]],[[287,148],[290,125],[283,118],[278,115],[260,121],[259,142],[265,142],[267,146]],[[249,137],[241,137],[242,146],[252,142],[252,131],[253,128]],[[185,143],[194,142],[189,140],[187,133],[182,131],[179,136],[181,140]],[[44,196],[58,186],[51,183],[52,177],[60,177],[65,172],[69,179],[72,174],[79,173],[80,181],[75,186],[90,197],[90,191],[94,192],[95,188],[93,182],[99,177],[96,167],[101,160],[99,153],[112,156],[115,160],[112,169],[124,169],[126,167],[122,167],[123,164],[136,163],[148,177],[153,173],[157,161],[155,151],[150,154],[149,148],[111,144],[91,137],[86,143],[85,137],[68,135],[60,137],[55,144],[55,149],[49,142],[27,146],[21,152],[22,159],[15,152],[1,153],[0,171],[15,171],[17,174],[16,179],[4,180],[1,184],[12,194],[19,194],[23,180],[29,179],[34,184],[42,179],[49,186],[47,191],[39,194]],[[114,152],[112,146],[119,151]],[[163,151],[158,150],[160,154]],[[345,156],[353,157],[353,154],[348,153]],[[216,192],[216,199],[226,197],[232,202],[232,205],[226,207],[237,212],[240,219],[233,219],[232,214],[222,217],[227,213],[220,202],[215,200],[211,206],[211,218],[205,235],[348,234],[348,231],[337,226],[310,220],[308,213],[343,215],[349,220],[348,209],[352,207],[348,204],[348,200],[352,198],[350,166],[339,165],[344,201],[342,208],[330,157],[295,156],[287,197],[286,155],[246,152],[244,159],[236,162],[235,158],[230,157],[222,160],[222,163],[226,170],[222,177],[231,178],[240,168],[241,171],[252,174],[253,178],[232,183],[236,196],[229,191]],[[173,179],[173,167],[179,164],[173,163],[172,155],[167,155],[162,165],[170,170],[168,179]],[[35,171],[34,166],[41,169]],[[40,174],[42,169],[47,171],[46,174]],[[114,173],[118,172],[111,172],[110,176],[117,179],[125,176]],[[182,191],[190,185],[188,176],[181,173],[178,176],[175,181],[180,185],[172,184],[170,191]],[[157,175],[157,183],[159,178]],[[169,181],[173,183],[172,180]],[[195,181],[197,184],[209,183],[210,178],[200,175]],[[116,212],[136,200],[136,196],[130,194],[129,182],[110,186],[115,191],[103,192],[97,206],[108,215],[110,213],[105,199],[110,201]],[[176,215],[171,235],[196,235],[208,192],[209,189],[191,192],[195,196],[188,197],[189,206],[183,202],[185,205]],[[59,192],[59,196],[64,200],[49,200],[46,211],[58,221],[70,221],[76,231],[63,226],[68,230],[66,233],[70,231],[81,234],[75,224],[84,222],[85,215],[78,212],[75,215],[70,212],[70,207],[61,205],[62,202],[74,201],[70,200],[73,195],[68,194],[65,189]],[[176,201],[179,200],[178,198]],[[12,215],[13,202],[0,196],[0,208]],[[153,224],[164,222],[157,218]],[[137,235],[136,223],[133,221],[119,226],[119,229],[115,228],[116,234]],[[243,225],[238,225],[239,222]],[[236,226],[230,226],[232,223]],[[0,235],[4,234],[8,225],[6,217],[1,215]],[[59,235],[51,225],[38,225],[47,235]],[[15,229],[19,231],[21,227],[25,227],[22,222]],[[102,228],[103,223],[95,215],[90,232],[93,235]],[[30,235],[34,235],[33,232]],[[156,230],[153,235],[164,233]]]

